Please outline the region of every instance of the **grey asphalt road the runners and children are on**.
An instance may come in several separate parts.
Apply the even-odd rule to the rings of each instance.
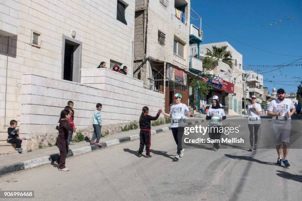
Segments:
[[[296,123],[302,125],[301,122]],[[241,129],[242,133],[248,133],[247,127]],[[300,139],[297,136],[296,143]],[[264,137],[265,132],[261,135]],[[220,152],[211,150],[210,144],[192,146],[177,162],[173,159],[176,144],[171,131],[152,136],[152,158],[136,157],[138,147],[139,140],[134,140],[69,158],[69,172],[44,165],[5,175],[0,177],[0,190],[34,190],[35,199],[25,201],[298,201],[302,198],[302,149],[290,150],[288,159],[292,167],[288,169],[275,165],[275,149],[248,152],[245,145],[225,146]]]

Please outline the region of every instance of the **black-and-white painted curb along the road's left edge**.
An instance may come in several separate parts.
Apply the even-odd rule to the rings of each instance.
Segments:
[[[194,121],[194,123],[199,123],[199,122],[204,122],[204,119],[198,120],[198,121]],[[191,125],[192,122],[187,123],[186,125]],[[162,133],[162,132],[166,132],[171,130],[171,127],[164,127],[161,129],[156,129],[151,131],[151,135],[154,134],[158,134],[158,133]],[[102,142],[103,146],[99,147],[97,145],[88,145],[88,146],[83,146],[83,147],[79,147],[76,149],[71,150],[70,152],[68,152],[66,158],[70,158],[73,156],[77,156],[77,155],[81,155],[81,154],[85,154],[91,151],[95,151],[95,150],[99,150],[99,149],[104,149],[107,147],[111,147],[117,144],[121,144],[124,142],[128,142],[128,141],[132,141],[135,139],[139,139],[140,135],[139,134],[134,134],[134,135],[130,135],[130,136],[126,136],[126,137],[120,137],[117,139],[113,139],[113,140],[109,140],[109,141],[105,141]],[[0,167],[0,176],[3,176],[4,174],[8,174],[8,173],[12,173],[12,172],[16,172],[16,171],[20,171],[23,169],[30,169],[33,167],[38,167],[41,165],[45,165],[45,164],[53,164],[55,161],[57,161],[57,159],[59,158],[59,153],[56,154],[51,154],[49,156],[42,156],[39,158],[35,158],[35,159],[31,159],[31,160],[27,160],[24,161],[22,163],[15,163],[9,166],[2,166]]]

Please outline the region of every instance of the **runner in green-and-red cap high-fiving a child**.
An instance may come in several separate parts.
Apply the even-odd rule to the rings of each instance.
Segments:
[[[174,137],[174,140],[177,144],[177,153],[175,155],[175,160],[179,160],[179,157],[184,156],[184,151],[182,146],[182,138],[184,135],[185,127],[185,118],[190,116],[189,107],[181,102],[182,95],[177,93],[174,95],[175,104],[172,105],[170,109],[170,114],[162,112],[163,115],[172,118],[171,120],[171,130]]]

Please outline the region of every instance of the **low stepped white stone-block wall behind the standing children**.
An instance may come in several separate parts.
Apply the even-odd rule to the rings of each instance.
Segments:
[[[34,74],[23,75],[20,133],[29,138],[25,140],[27,149],[54,143],[57,136],[55,127],[68,100],[75,103],[77,131],[90,137],[92,114],[98,102],[103,104],[103,135],[120,131],[130,121],[138,121],[145,105],[151,114],[164,106],[162,94],[144,89],[142,81],[129,76],[109,69],[85,69],[82,76],[84,82],[93,80],[94,83],[80,84]]]

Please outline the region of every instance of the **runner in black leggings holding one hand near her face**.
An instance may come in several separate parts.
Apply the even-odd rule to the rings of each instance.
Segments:
[[[260,114],[261,114],[261,105],[256,102],[256,96],[252,96],[253,104],[248,104],[248,125],[250,130],[250,144],[251,147],[248,151],[253,151],[257,149],[258,142],[258,131],[261,124]]]

